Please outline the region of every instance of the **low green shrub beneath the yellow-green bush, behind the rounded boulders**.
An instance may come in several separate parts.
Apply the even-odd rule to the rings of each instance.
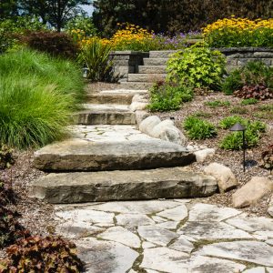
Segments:
[[[193,91],[186,86],[157,83],[150,89],[150,104],[147,108],[162,112],[178,110],[183,102],[192,99]]]

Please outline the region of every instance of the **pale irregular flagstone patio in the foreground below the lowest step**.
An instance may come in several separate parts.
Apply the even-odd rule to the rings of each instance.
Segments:
[[[272,219],[194,199],[56,206],[86,272],[273,272]]]

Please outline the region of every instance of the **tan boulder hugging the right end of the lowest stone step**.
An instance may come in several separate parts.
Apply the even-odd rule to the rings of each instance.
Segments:
[[[238,186],[238,180],[229,167],[218,163],[211,163],[205,167],[205,173],[217,178],[220,192],[226,192]]]

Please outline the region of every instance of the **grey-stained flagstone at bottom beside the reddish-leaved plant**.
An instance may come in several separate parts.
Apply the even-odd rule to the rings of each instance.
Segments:
[[[138,253],[116,242],[84,238],[76,241],[86,273],[121,273],[132,268]]]

